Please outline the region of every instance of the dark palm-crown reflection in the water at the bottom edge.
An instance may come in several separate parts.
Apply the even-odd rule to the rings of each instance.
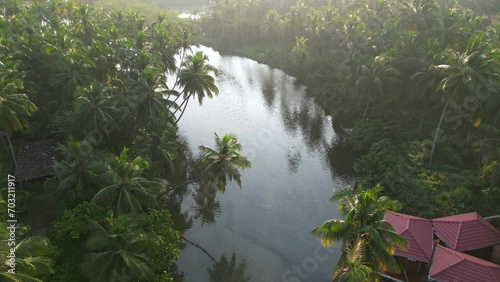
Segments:
[[[246,273],[247,264],[243,260],[240,263],[236,261],[236,254],[233,253],[231,260],[222,255],[219,261],[214,262],[208,269],[210,282],[248,282],[251,275]]]

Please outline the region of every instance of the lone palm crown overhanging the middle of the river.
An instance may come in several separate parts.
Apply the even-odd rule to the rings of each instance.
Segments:
[[[241,187],[239,169],[250,167],[250,161],[242,156],[241,144],[234,135],[222,135],[220,138],[215,133],[216,149],[207,146],[200,146],[200,150],[205,153],[202,159],[202,178],[205,178],[209,184],[216,184],[219,191],[224,192],[228,180],[235,180]]]

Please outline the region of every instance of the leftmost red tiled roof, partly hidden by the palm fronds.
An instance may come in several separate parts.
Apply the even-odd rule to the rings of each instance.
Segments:
[[[429,219],[387,211],[384,219],[410,245],[408,250],[396,249],[395,254],[429,262],[432,255],[432,222]]]

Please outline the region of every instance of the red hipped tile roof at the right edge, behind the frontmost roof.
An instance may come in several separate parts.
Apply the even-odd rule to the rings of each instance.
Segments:
[[[476,212],[436,218],[432,225],[439,238],[453,250],[468,251],[500,244],[500,232]]]

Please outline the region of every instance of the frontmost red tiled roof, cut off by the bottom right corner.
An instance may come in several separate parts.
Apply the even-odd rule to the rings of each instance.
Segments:
[[[441,282],[500,282],[500,265],[437,245],[429,277]]]

